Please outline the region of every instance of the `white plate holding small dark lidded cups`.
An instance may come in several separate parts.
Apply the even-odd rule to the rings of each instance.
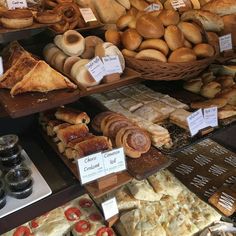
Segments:
[[[7,195],[6,205],[2,209],[0,209],[0,219],[28,205],[31,205],[34,202],[37,202],[52,193],[52,190],[50,189],[47,182],[44,180],[34,163],[30,160],[27,153],[22,150],[21,154],[24,158],[23,164],[32,171],[33,192],[30,196],[24,199],[16,199]]]

